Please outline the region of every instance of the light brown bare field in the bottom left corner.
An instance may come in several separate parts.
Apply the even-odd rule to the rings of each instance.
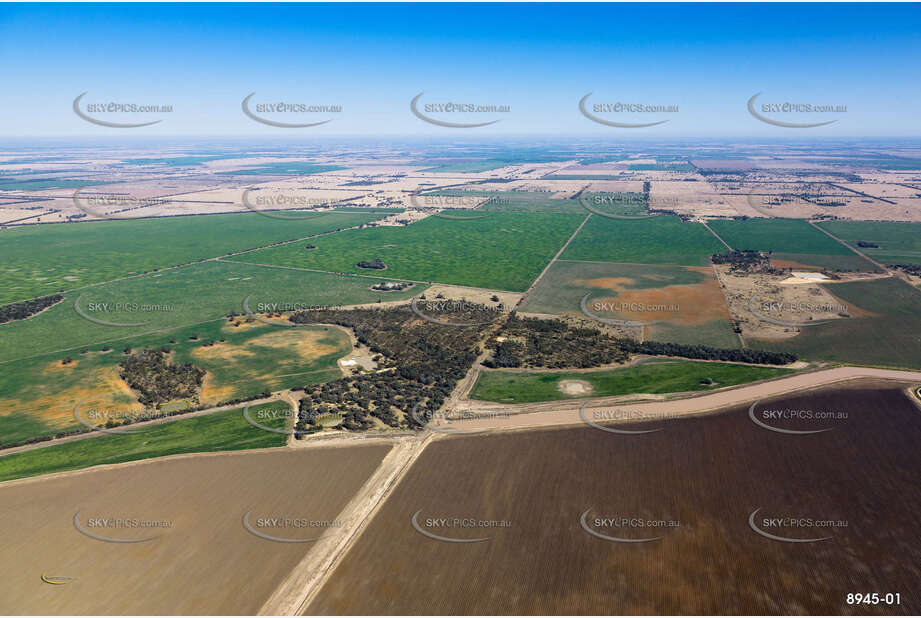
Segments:
[[[180,455],[0,484],[2,614],[254,614],[308,552],[348,526],[260,526],[260,518],[335,522],[389,444]],[[276,537],[265,540],[250,525]],[[141,539],[113,543],[80,533]],[[93,526],[92,518],[168,522]],[[42,575],[69,577],[49,585]]]

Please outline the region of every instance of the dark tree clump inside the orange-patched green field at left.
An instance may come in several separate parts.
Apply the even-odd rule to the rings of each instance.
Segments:
[[[204,369],[192,363],[173,365],[161,350],[145,348],[118,364],[121,378],[140,393],[138,401],[155,406],[173,399],[197,398]]]

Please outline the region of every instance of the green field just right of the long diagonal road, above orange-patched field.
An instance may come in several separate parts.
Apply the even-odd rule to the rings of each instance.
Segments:
[[[699,223],[678,217],[610,219],[593,215],[561,256],[567,260],[707,266],[725,247]]]

